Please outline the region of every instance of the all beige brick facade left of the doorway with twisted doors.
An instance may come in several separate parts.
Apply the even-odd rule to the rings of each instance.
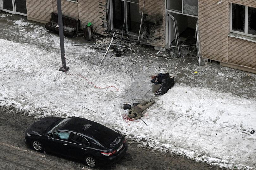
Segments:
[[[107,30],[107,0],[79,0],[71,2],[61,0],[62,14],[81,20],[81,26],[93,23],[96,33],[106,35]],[[140,13],[142,13],[144,0],[139,0]],[[50,20],[52,12],[57,12],[56,0],[27,0],[27,17],[46,23]],[[165,0],[147,0],[145,3],[145,20],[149,23],[150,37],[147,43],[153,46],[165,46]]]

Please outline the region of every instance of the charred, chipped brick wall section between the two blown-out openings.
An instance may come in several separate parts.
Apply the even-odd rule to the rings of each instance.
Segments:
[[[139,0],[139,8],[141,14],[143,10],[143,3],[144,0]],[[150,36],[149,40],[147,40],[147,43],[153,46],[164,47],[166,44],[165,0],[146,0],[143,22],[149,27],[150,30]]]

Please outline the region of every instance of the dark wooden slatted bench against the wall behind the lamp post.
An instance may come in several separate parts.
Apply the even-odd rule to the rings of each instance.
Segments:
[[[80,28],[80,20],[68,17],[68,16],[62,16],[62,22],[63,22],[63,33],[66,36],[73,37],[77,34]],[[59,32],[58,27],[58,14],[52,13],[50,22],[48,22],[45,25],[45,28],[49,31],[55,31]]]

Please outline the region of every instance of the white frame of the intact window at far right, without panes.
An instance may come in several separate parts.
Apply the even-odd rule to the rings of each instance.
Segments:
[[[236,33],[236,34],[241,34],[241,35],[245,35],[245,36],[250,36],[250,37],[256,37],[256,35],[254,34],[249,34],[248,33],[248,27],[249,27],[249,22],[248,22],[248,6],[242,5],[245,7],[245,18],[244,18],[244,32],[240,32],[240,31],[235,31],[233,30],[233,4],[235,3],[230,3],[230,32]],[[239,4],[236,4],[239,5]],[[250,7],[253,8],[253,7]],[[256,8],[254,8],[256,9]]]

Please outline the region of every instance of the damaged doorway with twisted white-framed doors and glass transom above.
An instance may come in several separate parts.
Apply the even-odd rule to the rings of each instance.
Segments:
[[[166,0],[166,14],[166,43],[170,54],[196,56],[201,65],[198,0]]]

